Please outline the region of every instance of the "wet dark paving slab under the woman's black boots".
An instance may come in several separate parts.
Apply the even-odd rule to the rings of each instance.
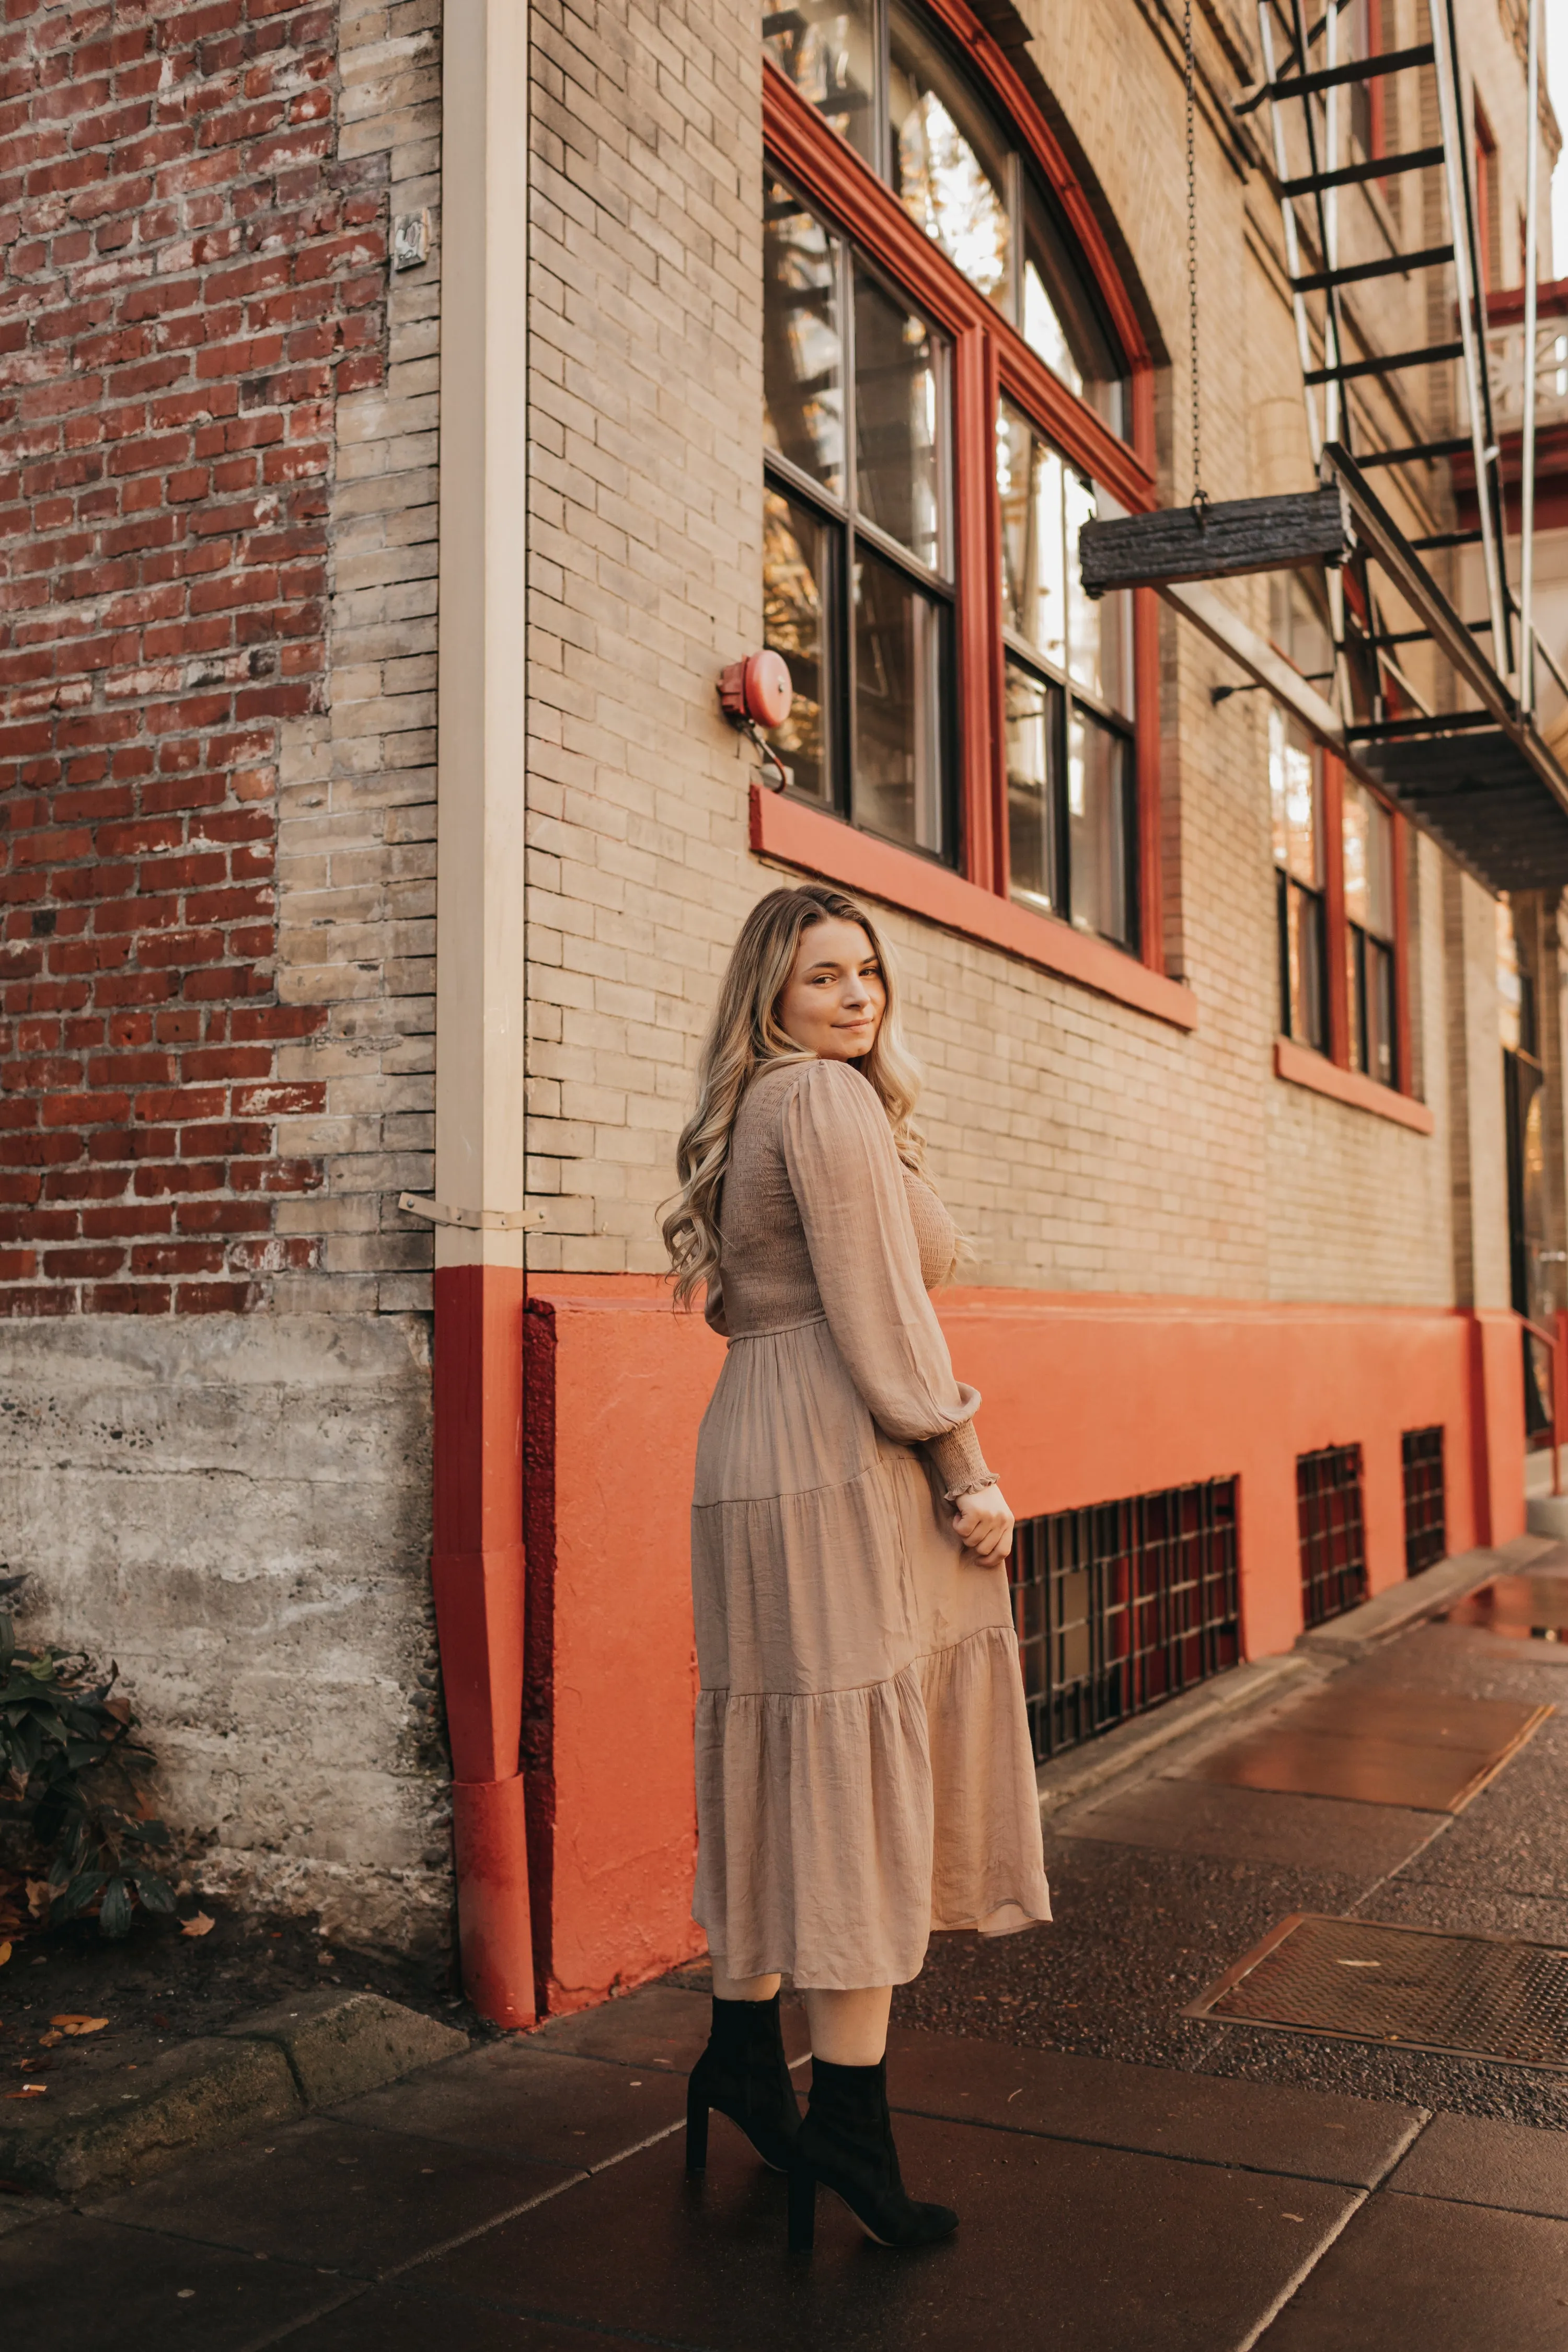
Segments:
[[[1220,2352],[1342,2227],[1356,2190],[900,2117],[914,2194],[961,2209],[917,2256],[867,2244],[818,2197],[816,2253],[785,2253],[785,2185],[715,2126],[686,2185],[679,2140],[559,2204],[421,2263],[407,2284],[703,2352]],[[447,2305],[449,2333],[461,2321]]]

